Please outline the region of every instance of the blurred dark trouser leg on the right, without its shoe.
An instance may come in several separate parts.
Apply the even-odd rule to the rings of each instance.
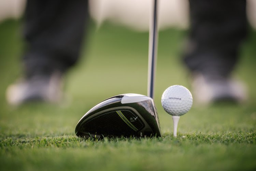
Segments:
[[[190,0],[184,61],[192,72],[228,77],[246,36],[245,0]]]

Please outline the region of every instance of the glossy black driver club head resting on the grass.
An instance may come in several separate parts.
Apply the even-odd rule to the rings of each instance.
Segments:
[[[161,136],[154,100],[139,94],[117,95],[100,102],[79,120],[75,134],[99,139]]]

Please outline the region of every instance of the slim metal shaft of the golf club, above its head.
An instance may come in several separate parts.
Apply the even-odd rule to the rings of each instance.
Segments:
[[[158,30],[157,30],[157,0],[153,0],[153,10],[151,11],[152,20],[150,20],[149,28],[149,43],[148,43],[148,75],[147,75],[147,96],[154,98],[155,86],[155,70],[157,58],[157,43],[158,43]]]

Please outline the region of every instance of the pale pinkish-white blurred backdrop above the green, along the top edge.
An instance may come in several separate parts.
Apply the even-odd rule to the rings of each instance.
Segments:
[[[246,3],[248,21],[256,28],[256,2],[247,0]],[[0,0],[0,22],[20,18],[25,4],[26,0]],[[188,0],[159,0],[159,29],[187,29],[188,10]],[[124,25],[136,31],[147,31],[149,27],[150,2],[147,0],[89,0],[89,12],[98,27],[104,21]]]

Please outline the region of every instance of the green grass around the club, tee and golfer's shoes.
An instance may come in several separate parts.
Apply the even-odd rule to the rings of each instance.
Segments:
[[[117,94],[146,94],[148,33],[111,24],[96,30],[92,24],[78,65],[66,75],[61,104],[14,108],[5,101],[5,89],[22,71],[20,27],[13,20],[0,24],[0,170],[256,169],[256,32],[250,32],[234,72],[247,83],[245,104],[193,105],[174,138],[160,98],[168,86],[190,89],[190,82],[180,62],[185,32],[168,29],[159,33],[155,97],[163,136],[90,141],[74,134],[85,112]]]

